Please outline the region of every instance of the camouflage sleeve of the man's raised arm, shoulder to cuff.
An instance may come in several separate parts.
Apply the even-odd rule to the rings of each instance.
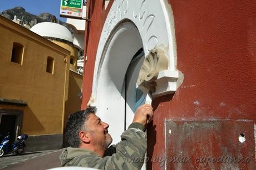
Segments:
[[[103,158],[95,155],[81,155],[75,161],[76,166],[97,169],[141,169],[146,153],[146,135],[144,131],[144,125],[132,123],[122,133],[122,141],[116,145],[115,151],[110,151],[114,151],[114,154]]]

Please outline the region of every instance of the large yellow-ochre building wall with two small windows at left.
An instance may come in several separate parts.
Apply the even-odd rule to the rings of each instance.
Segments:
[[[3,17],[0,39],[0,97],[27,102],[0,109],[23,110],[28,135],[62,133],[70,52]],[[24,45],[22,65],[11,62],[13,42]],[[47,56],[54,58],[53,74],[46,72]]]

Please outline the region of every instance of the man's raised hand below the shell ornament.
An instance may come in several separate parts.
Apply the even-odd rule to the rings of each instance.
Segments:
[[[151,120],[153,120],[153,108],[149,104],[144,104],[136,110],[132,123],[137,122],[145,126]]]

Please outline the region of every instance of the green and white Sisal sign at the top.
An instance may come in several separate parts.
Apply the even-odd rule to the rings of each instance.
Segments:
[[[66,18],[82,18],[82,0],[61,0],[60,16]]]

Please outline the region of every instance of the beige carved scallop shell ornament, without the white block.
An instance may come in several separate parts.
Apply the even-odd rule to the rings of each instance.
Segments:
[[[150,50],[149,55],[146,56],[143,65],[141,66],[137,85],[143,86],[151,92],[155,92],[155,80],[157,79],[159,72],[168,69],[168,66],[169,60],[164,50]]]

